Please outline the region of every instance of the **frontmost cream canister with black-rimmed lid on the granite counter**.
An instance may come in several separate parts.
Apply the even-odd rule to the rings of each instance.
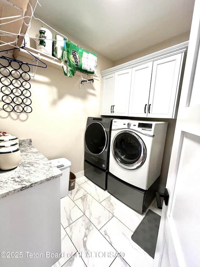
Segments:
[[[20,149],[15,146],[0,148],[0,169],[11,170],[19,165]]]

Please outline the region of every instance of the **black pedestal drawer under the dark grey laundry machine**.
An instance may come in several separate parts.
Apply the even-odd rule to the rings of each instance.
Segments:
[[[107,189],[108,171],[101,170],[89,164],[87,161],[84,161],[84,175],[102,189]]]

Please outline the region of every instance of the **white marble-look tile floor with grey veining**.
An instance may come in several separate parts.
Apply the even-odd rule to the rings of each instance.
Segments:
[[[148,209],[161,215],[154,199]],[[146,211],[147,212],[147,211]],[[52,267],[151,267],[131,236],[143,215],[83,176],[61,199],[60,258]]]

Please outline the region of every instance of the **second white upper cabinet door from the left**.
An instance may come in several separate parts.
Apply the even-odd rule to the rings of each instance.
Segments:
[[[113,115],[128,116],[132,69],[123,69],[115,73]]]

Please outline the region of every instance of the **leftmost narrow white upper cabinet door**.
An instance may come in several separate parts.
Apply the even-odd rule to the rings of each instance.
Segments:
[[[103,77],[101,115],[110,116],[113,108],[115,73]]]

